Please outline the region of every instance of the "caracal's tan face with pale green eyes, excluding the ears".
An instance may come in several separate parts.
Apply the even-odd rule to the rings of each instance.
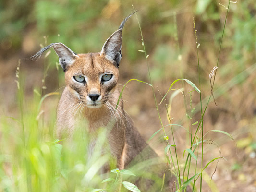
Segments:
[[[73,97],[89,108],[99,108],[107,101],[111,102],[111,94],[117,88],[118,68],[100,53],[77,56],[65,72],[66,85]]]

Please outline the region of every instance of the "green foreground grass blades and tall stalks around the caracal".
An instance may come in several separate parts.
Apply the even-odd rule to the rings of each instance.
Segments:
[[[227,6],[225,24],[222,30],[219,53],[217,56],[217,67],[219,67],[219,57],[221,54],[221,46],[223,43],[229,7],[230,2]],[[220,91],[218,90],[223,88],[223,92],[225,93],[228,88],[235,86],[237,84],[237,81],[242,81],[243,79],[241,80],[240,75],[243,76],[243,72],[245,70],[216,91],[213,90],[216,77],[215,72],[213,83],[211,84],[211,86],[208,87],[212,90],[211,94],[210,96],[203,98],[202,93],[205,90],[201,90],[201,88],[203,87],[201,86],[202,72],[198,52],[200,46],[199,42],[197,42],[198,39],[194,22],[196,38],[195,49],[198,61],[198,74],[196,75],[198,75],[198,82],[192,83],[192,81],[184,79],[183,74],[181,74],[181,78],[175,80],[170,85],[166,94],[162,97],[161,101],[158,102],[154,81],[151,77],[152,74],[150,65],[148,63],[148,58],[150,56],[148,56],[146,53],[145,42],[143,39],[143,32],[140,23],[139,29],[142,37],[143,47],[143,50],[140,50],[140,52],[143,52],[145,55],[147,65],[146,67],[148,70],[150,83],[146,83],[145,81],[141,81],[138,79],[130,79],[126,84],[128,84],[132,80],[135,80],[137,82],[146,83],[152,88],[152,95],[154,97],[153,99],[155,103],[155,108],[158,113],[158,119],[161,124],[161,129],[159,129],[154,135],[152,135],[152,137],[150,137],[148,143],[152,141],[151,139],[153,137],[160,134],[160,139],[166,142],[166,146],[162,148],[162,151],[164,151],[164,157],[166,158],[166,162],[170,166],[169,174],[173,177],[176,177],[177,179],[177,183],[175,183],[177,191],[186,191],[187,186],[190,186],[193,191],[204,191],[204,171],[212,162],[219,162],[219,159],[223,158],[221,156],[218,156],[212,159],[206,159],[206,157],[203,156],[205,144],[211,143],[215,144],[218,147],[218,145],[213,141],[210,142],[210,140],[205,139],[205,136],[208,132],[204,132],[204,115],[207,111],[209,103],[212,102],[212,97],[215,96],[215,98],[218,98],[219,96],[223,95],[223,93],[220,93]],[[178,40],[176,39],[176,41]],[[255,67],[255,65],[253,65],[252,67]],[[221,66],[219,68],[221,68]],[[44,70],[43,80],[47,78],[48,69],[49,65],[47,65]],[[73,142],[72,144],[65,144],[65,141],[58,141],[56,139],[56,136],[54,134],[55,111],[50,108],[47,110],[47,112],[45,112],[43,110],[43,106],[46,107],[48,105],[49,96],[57,97],[58,93],[53,92],[45,94],[45,91],[43,91],[45,90],[45,84],[43,81],[42,88],[35,88],[33,98],[27,99],[26,94],[24,93],[25,80],[21,76],[22,72],[20,70],[22,70],[22,65],[20,66],[19,63],[16,72],[18,88],[16,113],[18,118],[15,119],[13,117],[7,116],[0,117],[0,191],[97,192],[102,191],[103,189],[112,191],[117,188],[117,183],[119,182],[118,178],[122,174],[124,178],[122,182],[122,190],[125,190],[126,188],[132,189],[134,190],[134,192],[139,191],[132,184],[134,178],[138,176],[134,175],[133,172],[130,172],[129,170],[121,171],[115,169],[115,162],[111,158],[110,154],[106,153],[105,155],[102,155],[100,153],[100,149],[102,147],[109,148],[106,142],[106,131],[104,128],[98,130],[98,134],[96,137],[97,146],[96,150],[93,153],[91,153],[89,150],[89,143],[91,141],[91,138],[88,136],[88,134],[86,134],[86,132],[83,133],[78,131],[75,134],[75,142]],[[247,75],[247,73],[245,74],[245,76]],[[180,80],[183,82],[182,87],[180,87],[179,89],[174,89],[172,86]],[[191,89],[188,93],[184,93],[183,91],[185,88],[184,83],[188,83],[191,86]],[[195,84],[198,84],[199,88],[197,88]],[[122,96],[125,85],[122,88],[120,98]],[[174,92],[171,94],[171,96],[169,96],[169,92],[171,91]],[[190,108],[186,108],[186,114],[184,114],[184,116],[186,117],[186,121],[188,121],[188,123],[190,124],[190,129],[185,128],[189,135],[187,137],[187,143],[189,143],[189,147],[185,147],[183,148],[183,150],[178,150],[178,148],[181,149],[182,147],[178,146],[178,144],[175,143],[175,131],[177,130],[174,129],[174,126],[176,126],[176,124],[172,123],[172,118],[170,117],[169,112],[170,108],[168,107],[168,105],[171,105],[171,99],[168,105],[163,106],[164,101],[166,98],[168,98],[168,96],[171,98],[172,96],[174,96],[174,94],[180,92],[182,92],[183,95],[189,94],[190,99]],[[198,103],[198,105],[192,105],[192,95],[200,97],[200,103]],[[186,102],[187,101],[184,97],[185,106],[187,105]],[[118,104],[119,103],[117,103],[117,105]],[[161,113],[159,112],[160,107],[164,107],[166,110],[166,115],[170,122],[167,125],[164,125],[164,122],[162,120],[163,118],[161,117]],[[194,114],[197,111],[201,113],[201,117],[200,119],[195,120]],[[179,126],[183,127],[183,124],[181,123],[181,125]],[[168,128],[170,129],[167,131]],[[212,131],[222,133],[232,138],[232,136],[227,132],[221,130]],[[183,154],[180,153],[180,151],[183,151]],[[88,158],[88,156],[90,156],[90,158]],[[101,166],[108,162],[110,162],[110,167],[112,171],[101,174]],[[143,165],[141,166],[143,167]],[[160,191],[161,188],[153,189],[153,191],[154,190]]]

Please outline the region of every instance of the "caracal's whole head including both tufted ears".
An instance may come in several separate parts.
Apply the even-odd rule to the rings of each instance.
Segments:
[[[89,108],[99,108],[108,100],[113,100],[111,94],[117,88],[118,67],[122,58],[122,28],[131,15],[107,39],[101,52],[76,54],[63,43],[52,43],[42,48],[33,58],[40,57],[51,47],[54,48],[72,96]]]

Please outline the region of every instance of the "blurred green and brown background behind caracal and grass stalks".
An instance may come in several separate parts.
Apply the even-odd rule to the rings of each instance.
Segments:
[[[43,95],[61,93],[65,86],[64,72],[56,64],[58,57],[54,51],[46,58],[43,56],[44,59],[31,60],[30,57],[54,42],[62,42],[76,53],[99,52],[122,19],[133,12],[132,5],[139,10],[137,17],[158,103],[176,79],[186,78],[199,87],[195,18],[205,107],[211,93],[208,75],[217,64],[228,0],[1,0],[0,115],[19,118],[15,82],[19,60],[25,99],[33,98],[35,90],[39,89],[43,90]],[[138,51],[141,49],[141,34],[133,16],[123,30],[120,89],[131,78],[150,83],[145,55]],[[230,4],[213,89],[218,107],[211,100],[204,117],[204,132],[223,130],[236,141],[219,133],[207,134],[207,139],[214,140],[221,156],[227,159],[218,164],[213,191],[256,192],[255,73],[256,3],[255,0],[238,0]],[[174,88],[183,88],[184,95],[173,96],[170,92],[159,106],[161,117],[165,125],[169,123],[165,105],[170,104],[172,122],[188,129],[190,120],[186,113],[190,104],[195,108],[193,122],[200,120],[200,97],[196,92],[190,96],[192,88],[185,82],[178,82]],[[50,96],[44,102],[46,121],[55,118],[58,99],[58,96]],[[151,88],[130,82],[123,99],[125,110],[148,140],[161,128]],[[170,130],[168,132],[171,135]],[[149,144],[161,155],[164,153],[163,133],[158,134],[159,137],[154,137]],[[174,134],[179,156],[183,158],[183,150],[189,147],[188,135],[179,127],[175,127]],[[218,157],[219,149],[206,145],[205,161]],[[206,183],[215,166],[207,168]],[[204,191],[208,189],[206,183]]]

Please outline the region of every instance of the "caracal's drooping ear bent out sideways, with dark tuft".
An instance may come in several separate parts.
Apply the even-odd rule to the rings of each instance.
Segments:
[[[64,72],[67,70],[69,66],[71,66],[74,63],[74,61],[77,58],[79,58],[78,55],[76,55],[70,48],[65,46],[63,43],[52,43],[49,46],[42,48],[31,58],[35,59],[37,57],[38,58],[41,57],[41,55],[51,47],[55,50],[56,54],[59,56],[59,62]]]

